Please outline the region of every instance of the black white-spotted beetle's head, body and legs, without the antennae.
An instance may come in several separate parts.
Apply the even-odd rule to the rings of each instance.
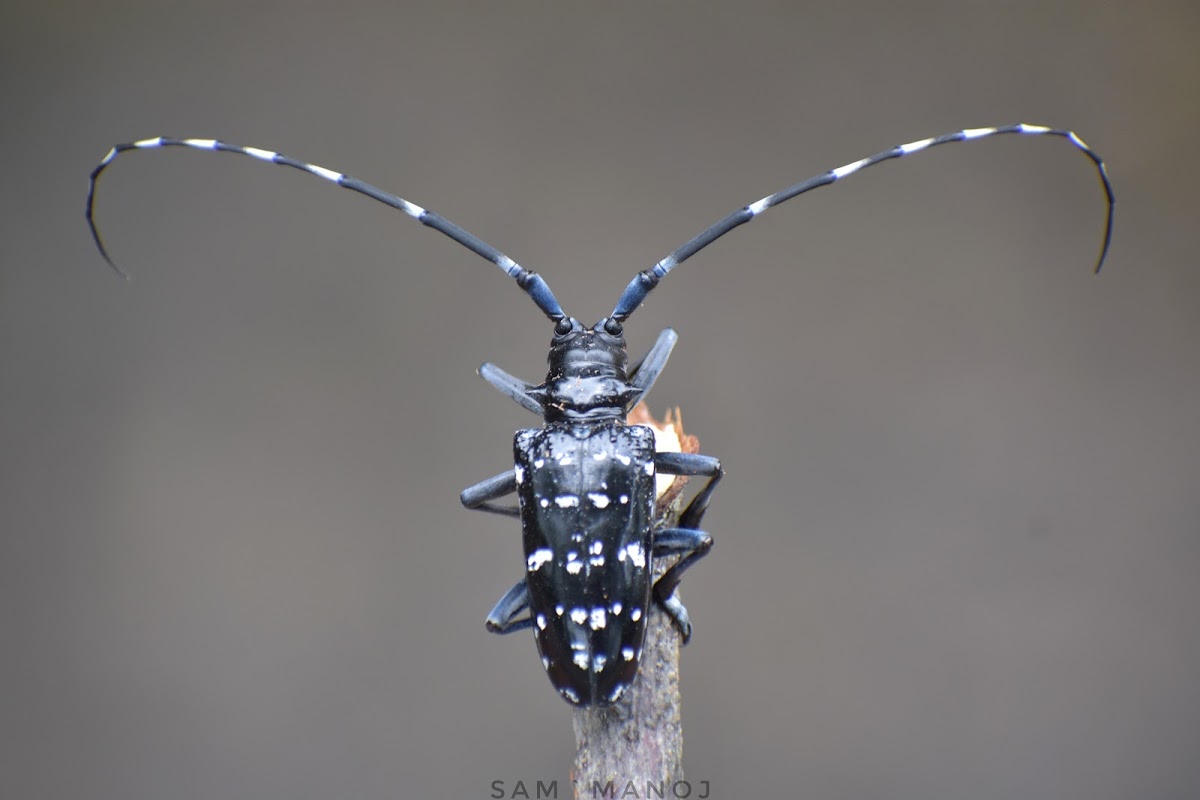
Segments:
[[[526,578],[497,603],[487,627],[509,633],[533,626],[541,662],[559,693],[576,705],[614,702],[637,673],[653,596],[691,636],[674,596],[684,570],[713,546],[700,530],[721,464],[710,456],[655,452],[654,432],[625,416],[653,385],[676,343],[659,336],[626,377],[620,323],[587,329],[563,317],[554,325],[550,373],[527,386],[498,367],[480,368],[493,386],[545,417],[518,431],[516,465],[462,493],[468,509],[521,518]],[[530,402],[532,401],[532,402]],[[676,528],[654,529],[655,476],[707,475]],[[516,507],[491,501],[516,492]],[[682,555],[656,582],[653,559]]]

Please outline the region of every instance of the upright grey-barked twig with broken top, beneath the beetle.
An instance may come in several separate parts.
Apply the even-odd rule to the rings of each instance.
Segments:
[[[660,451],[698,451],[698,440],[683,433],[678,410],[674,419],[668,413],[664,422],[656,422],[638,405],[629,422],[653,427]],[[680,476],[668,486],[660,485],[655,528],[673,527],[678,521],[685,482]],[[655,561],[654,579],[673,563]],[[571,781],[577,799],[646,796],[648,784],[665,787],[671,796],[671,787],[683,780],[679,645],[679,631],[650,603],[646,646],[634,682],[612,706],[574,711],[577,752]],[[626,793],[630,784],[634,794]]]

